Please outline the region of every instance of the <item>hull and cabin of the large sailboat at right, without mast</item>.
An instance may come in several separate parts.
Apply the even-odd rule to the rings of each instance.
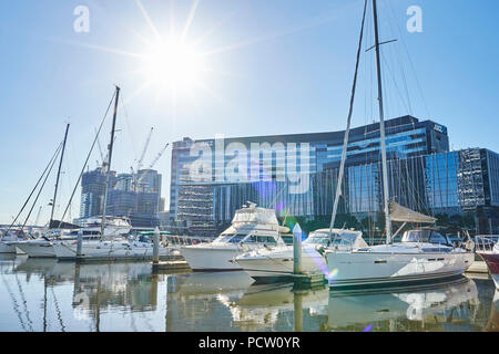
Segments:
[[[400,242],[326,250],[329,287],[350,290],[409,285],[462,274],[475,254],[434,229],[406,231]]]

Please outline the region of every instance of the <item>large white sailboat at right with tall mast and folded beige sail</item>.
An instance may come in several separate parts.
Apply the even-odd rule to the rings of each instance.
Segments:
[[[435,219],[404,208],[389,198],[376,0],[373,0],[373,18],[386,244],[353,249],[347,252],[326,250],[329,287],[338,290],[368,287],[404,287],[459,277],[471,266],[475,259],[473,253],[461,248],[455,248],[446,236],[430,228],[406,231],[400,242],[393,242],[391,221],[400,221],[404,225],[406,222],[431,223],[435,222]]]

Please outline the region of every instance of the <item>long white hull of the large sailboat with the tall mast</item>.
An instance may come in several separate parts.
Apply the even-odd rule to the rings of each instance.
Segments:
[[[405,287],[461,275],[472,253],[327,253],[332,289]]]

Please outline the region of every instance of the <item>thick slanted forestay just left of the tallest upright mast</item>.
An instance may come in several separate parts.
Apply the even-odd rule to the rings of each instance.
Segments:
[[[354,113],[355,91],[357,88],[357,75],[358,75],[358,66],[359,66],[359,62],[360,62],[360,51],[361,51],[361,46],[363,46],[364,23],[366,21],[366,9],[367,9],[367,0],[364,1],[364,14],[363,14],[363,24],[360,27],[360,38],[358,40],[357,63],[355,65],[354,84],[352,86],[352,95],[350,95],[350,107],[348,111],[347,127],[345,131],[345,139],[343,142],[342,163],[339,165],[338,184],[336,185],[335,202],[333,206],[333,214],[330,216],[329,233],[333,233],[333,228],[335,227],[336,214],[338,211],[339,196],[342,194],[343,175],[345,174],[345,160],[346,160],[346,155],[347,155],[347,149],[348,149],[348,137],[350,134],[352,115]]]

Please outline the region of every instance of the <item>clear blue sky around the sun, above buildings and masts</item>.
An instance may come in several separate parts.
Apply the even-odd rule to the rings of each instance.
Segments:
[[[72,126],[59,200],[62,209],[115,83],[126,102],[126,110],[119,115],[121,132],[113,162],[119,171],[134,165],[151,126],[155,133],[145,165],[164,143],[184,136],[344,129],[363,3],[142,0],[149,14],[144,17],[135,0],[1,1],[0,222],[9,222],[17,214],[69,119]],[[406,10],[414,4],[422,9],[422,33],[405,30]],[[90,10],[89,33],[73,30],[77,6]],[[499,152],[499,2],[379,0],[379,12],[383,40],[399,39],[384,46],[388,117],[413,113],[431,118],[448,126],[455,149]],[[139,91],[145,83],[138,73],[143,62],[125,53],[141,54],[143,39],[154,38],[147,18],[161,35],[171,27],[181,33],[185,23],[191,23],[185,41],[196,43],[198,52],[211,53],[205,56],[210,72],[200,77],[202,86],[184,90],[176,100],[165,92],[159,94],[157,85]],[[356,126],[377,118],[370,100],[373,52],[363,58]],[[400,98],[405,97],[401,67],[410,110]],[[101,139],[103,146],[109,127]],[[91,168],[98,158],[95,152]],[[166,198],[170,158],[169,150],[155,166],[164,175]],[[49,201],[53,184],[51,179],[42,204]],[[72,217],[79,214],[79,194]],[[48,217],[45,207],[40,222]]]

